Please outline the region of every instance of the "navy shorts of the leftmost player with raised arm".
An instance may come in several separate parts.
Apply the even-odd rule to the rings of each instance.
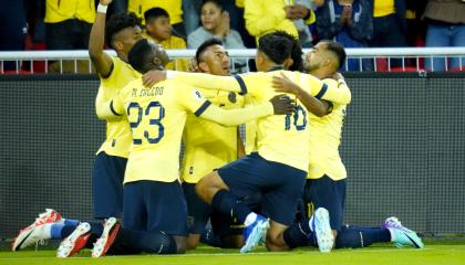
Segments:
[[[121,218],[123,211],[123,181],[126,158],[100,152],[92,172],[92,200],[95,219]]]

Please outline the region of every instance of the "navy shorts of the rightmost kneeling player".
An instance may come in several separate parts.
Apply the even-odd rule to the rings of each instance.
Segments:
[[[332,180],[328,176],[320,179],[308,179],[303,191],[303,203],[306,215],[310,216],[314,209],[326,208],[330,214],[332,230],[341,230],[344,203],[345,203],[345,179]]]

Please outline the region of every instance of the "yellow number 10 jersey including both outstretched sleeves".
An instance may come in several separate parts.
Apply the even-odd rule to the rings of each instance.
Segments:
[[[245,103],[258,105],[278,95],[272,88],[271,77],[279,76],[280,72],[318,98],[341,104],[350,102],[350,95],[348,97],[342,89],[329,87],[317,77],[300,72],[272,71],[236,76],[168,72],[168,78],[172,76],[202,88],[221,88],[240,92],[242,95],[248,94]],[[292,115],[273,115],[257,119],[257,150],[269,161],[285,163],[307,172],[309,137],[307,109],[299,100],[297,100],[297,110]]]

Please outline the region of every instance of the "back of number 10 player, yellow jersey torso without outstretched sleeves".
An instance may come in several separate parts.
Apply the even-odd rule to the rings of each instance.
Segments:
[[[247,88],[246,104],[258,105],[278,93],[271,86],[271,77],[283,73],[301,87],[308,87],[308,76],[289,71],[260,72],[241,75]],[[307,82],[303,85],[303,82]],[[293,95],[288,95],[294,98]],[[308,171],[308,117],[307,109],[298,100],[292,115],[272,115],[257,120],[258,153],[267,160],[286,163]]]

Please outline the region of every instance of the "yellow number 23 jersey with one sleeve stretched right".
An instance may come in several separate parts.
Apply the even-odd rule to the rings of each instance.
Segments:
[[[142,78],[127,84],[105,113],[126,116],[132,130],[132,148],[124,183],[140,180],[173,182],[179,178],[180,138],[187,113],[227,126],[271,115],[270,103],[255,108],[223,110],[199,91],[178,81],[145,87]]]

